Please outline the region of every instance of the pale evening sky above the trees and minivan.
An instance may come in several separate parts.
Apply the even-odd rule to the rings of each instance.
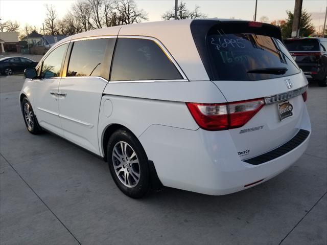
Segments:
[[[73,0],[0,0],[0,17],[16,20],[21,27],[26,24],[42,26],[45,18],[45,5],[55,6],[58,16],[63,17],[76,1]],[[174,0],[135,0],[139,9],[148,13],[148,21],[161,20],[161,15],[174,7]],[[200,6],[200,12],[208,17],[252,20],[255,0],[184,0],[188,9]],[[258,0],[257,20],[267,16],[269,22],[287,17],[286,10],[294,11],[295,0]],[[322,29],[327,0],[303,0],[302,9],[312,14],[316,29]]]

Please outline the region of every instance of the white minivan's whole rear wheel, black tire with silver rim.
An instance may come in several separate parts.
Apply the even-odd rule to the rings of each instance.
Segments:
[[[126,129],[116,130],[107,146],[111,176],[127,196],[141,198],[150,190],[147,155],[137,138]]]

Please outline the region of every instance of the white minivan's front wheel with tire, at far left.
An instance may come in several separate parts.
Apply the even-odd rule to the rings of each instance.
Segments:
[[[22,99],[21,109],[22,109],[22,115],[24,117],[24,122],[27,130],[30,133],[33,133],[33,135],[37,135],[38,133],[41,133],[42,129],[37,122],[32,105],[26,97]]]

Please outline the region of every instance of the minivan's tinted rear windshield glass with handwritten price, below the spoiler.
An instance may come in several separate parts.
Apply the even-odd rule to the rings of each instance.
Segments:
[[[216,80],[255,81],[299,73],[282,42],[273,37],[214,27],[207,47]]]

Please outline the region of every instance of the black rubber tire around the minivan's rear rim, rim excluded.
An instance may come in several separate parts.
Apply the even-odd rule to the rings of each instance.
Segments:
[[[119,178],[113,168],[112,151],[113,151],[113,147],[115,146],[115,144],[119,141],[124,141],[124,142],[128,143],[133,148],[133,150],[138,158],[140,177],[139,177],[139,181],[138,181],[137,185],[132,188],[125,186],[119,180]],[[147,192],[149,191],[149,188],[150,188],[148,158],[147,158],[147,155],[146,155],[141,143],[139,143],[137,138],[135,136],[133,136],[132,133],[130,133],[126,129],[119,129],[111,135],[111,137],[108,141],[108,146],[107,146],[107,161],[108,161],[111,176],[112,176],[115,184],[118,186],[118,188],[124,194],[126,194],[132,198],[141,198],[142,196],[147,194]]]

